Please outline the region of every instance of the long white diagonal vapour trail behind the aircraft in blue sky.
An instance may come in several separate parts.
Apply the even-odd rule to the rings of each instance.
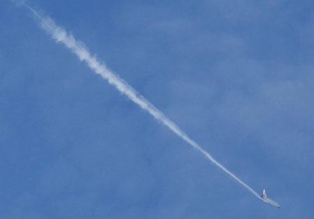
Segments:
[[[225,167],[223,167],[222,164],[220,164],[218,161],[214,159],[214,157],[211,157],[211,155],[204,149],[202,149],[195,141],[190,139],[188,135],[186,135],[179,127],[174,124],[170,119],[168,119],[165,115],[163,115],[162,112],[158,110],[153,104],[151,104],[147,99],[142,97],[140,94],[137,94],[137,92],[126,83],[126,81],[122,80],[114,74],[112,71],[107,69],[107,66],[100,62],[96,57],[91,56],[89,53],[89,50],[87,47],[81,43],[80,41],[75,40],[75,38],[68,34],[63,28],[57,26],[55,22],[50,17],[44,17],[42,15],[39,15],[33,8],[24,5],[29,10],[33,12],[34,15],[38,18],[40,22],[40,27],[45,29],[48,34],[52,36],[57,42],[63,43],[66,45],[66,48],[71,50],[81,61],[84,61],[87,63],[89,68],[95,71],[95,73],[100,74],[103,78],[105,78],[111,85],[114,85],[114,87],[119,90],[122,94],[125,94],[130,100],[132,100],[135,104],[142,107],[144,110],[148,111],[151,115],[156,118],[156,120],[163,123],[163,125],[167,126],[169,129],[172,130],[175,134],[177,134],[181,139],[184,139],[187,143],[190,144],[190,146],[193,146],[195,150],[200,151],[203,155],[205,155],[211,162],[216,164],[220,169],[225,171],[225,173],[229,174],[232,178],[234,178],[238,183],[243,185],[246,189],[251,191],[256,197],[260,198],[260,196],[255,192],[251,187],[246,185],[243,181],[241,181],[237,176],[232,174],[229,170],[227,170]]]

